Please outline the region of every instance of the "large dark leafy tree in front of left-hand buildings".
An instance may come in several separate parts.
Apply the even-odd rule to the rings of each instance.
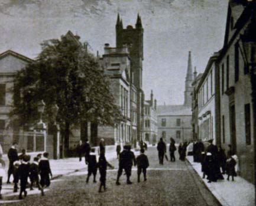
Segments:
[[[18,71],[14,91],[21,95],[16,95],[11,112],[12,119],[21,125],[34,123],[38,120],[37,104],[43,99],[43,120],[51,122],[51,107],[57,104],[65,151],[69,148],[72,125],[90,121],[114,126],[122,118],[114,104],[108,77],[87,51],[86,44],[74,38],[65,35],[60,40],[44,41],[35,61]]]

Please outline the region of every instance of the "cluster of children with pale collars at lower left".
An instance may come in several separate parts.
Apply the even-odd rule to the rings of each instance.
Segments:
[[[18,182],[20,181],[19,199],[22,199],[22,194],[24,194],[24,197],[27,196],[26,188],[28,186],[28,178],[30,178],[30,190],[33,190],[33,186],[36,185],[36,187],[41,190],[41,195],[44,195],[44,188],[50,185],[50,176],[52,177],[52,174],[50,163],[48,161],[48,153],[44,152],[43,156],[39,153],[34,158],[33,163],[30,163],[30,158],[30,155],[26,155],[25,151],[22,151],[19,160],[13,163],[14,171],[12,175],[14,177],[14,192],[18,192]],[[2,165],[0,169],[0,197],[2,178],[4,175],[4,165]]]

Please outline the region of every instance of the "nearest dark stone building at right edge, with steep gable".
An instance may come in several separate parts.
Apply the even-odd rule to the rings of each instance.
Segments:
[[[221,117],[219,145],[226,151],[229,144],[232,146],[232,152],[239,158],[239,173],[250,182],[254,181],[255,119],[247,61],[255,60],[256,48],[251,45],[245,47],[242,37],[255,36],[254,10],[255,2],[229,1],[224,44],[218,58]]]

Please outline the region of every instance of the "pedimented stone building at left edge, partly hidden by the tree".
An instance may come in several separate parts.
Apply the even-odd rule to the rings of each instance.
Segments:
[[[4,152],[7,152],[12,142],[17,142],[19,145],[27,142],[27,137],[20,138],[18,124],[10,125],[9,112],[14,104],[15,74],[32,61],[31,58],[11,50],[0,54],[0,142]],[[27,145],[25,146],[27,148]]]

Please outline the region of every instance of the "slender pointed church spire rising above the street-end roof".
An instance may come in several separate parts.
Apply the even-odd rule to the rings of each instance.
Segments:
[[[187,74],[185,81],[185,91],[184,91],[184,106],[192,106],[192,82],[193,82],[193,71],[192,71],[192,60],[191,51],[189,51],[189,60],[187,62]]]

